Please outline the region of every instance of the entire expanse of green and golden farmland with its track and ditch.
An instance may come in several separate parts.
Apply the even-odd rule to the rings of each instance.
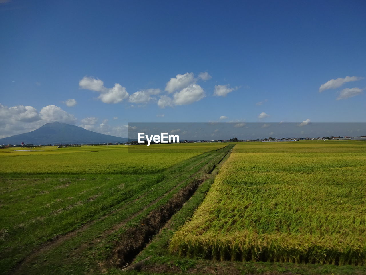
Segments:
[[[0,274],[366,274],[365,148],[0,149]]]

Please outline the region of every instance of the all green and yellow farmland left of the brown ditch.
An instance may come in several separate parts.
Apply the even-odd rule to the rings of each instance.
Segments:
[[[1,149],[0,273],[90,272],[98,263],[79,257],[91,249],[86,243],[105,241],[100,261],[106,262],[123,231],[187,186],[197,188],[199,175],[227,154],[222,147],[152,145],[153,153],[128,153],[127,146]]]

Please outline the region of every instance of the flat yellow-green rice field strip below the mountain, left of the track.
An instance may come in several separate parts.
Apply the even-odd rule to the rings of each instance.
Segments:
[[[146,174],[163,171],[180,161],[209,150],[223,147],[220,143],[151,145],[146,153],[128,154],[128,147],[137,145],[81,146],[81,147],[35,147],[36,150],[15,152],[22,148],[0,148],[0,173],[25,174]],[[24,148],[24,150],[32,150]],[[141,149],[142,150],[142,149]],[[72,160],[72,161],[71,161]]]

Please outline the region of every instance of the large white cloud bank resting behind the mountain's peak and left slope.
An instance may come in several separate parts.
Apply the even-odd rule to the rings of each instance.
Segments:
[[[30,132],[55,121],[74,124],[76,118],[55,105],[46,106],[38,113],[33,106],[0,104],[0,138]]]

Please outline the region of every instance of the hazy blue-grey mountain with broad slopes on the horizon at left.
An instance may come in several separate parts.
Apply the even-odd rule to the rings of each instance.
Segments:
[[[83,144],[127,142],[124,137],[109,136],[66,123],[47,123],[37,130],[0,139],[0,144]]]

